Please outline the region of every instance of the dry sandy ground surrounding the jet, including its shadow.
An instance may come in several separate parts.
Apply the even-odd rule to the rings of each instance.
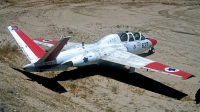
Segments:
[[[188,80],[102,64],[66,72],[28,73],[28,62],[7,30],[32,38],[97,42],[111,33],[141,31],[158,40],[149,59],[194,74]],[[199,112],[199,0],[1,0],[0,111]]]

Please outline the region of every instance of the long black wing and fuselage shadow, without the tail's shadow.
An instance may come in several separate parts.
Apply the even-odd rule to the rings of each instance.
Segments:
[[[148,73],[148,72],[147,72]],[[101,75],[114,80],[137,86],[158,94],[162,94],[177,100],[187,96],[187,94],[157,82],[139,73],[129,74],[128,70],[121,66],[110,66],[108,64],[91,65],[79,67],[72,71],[62,72],[54,77],[56,81],[76,80],[94,75]]]

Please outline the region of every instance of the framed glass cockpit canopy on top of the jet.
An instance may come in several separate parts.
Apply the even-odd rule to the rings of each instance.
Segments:
[[[145,40],[146,38],[140,32],[123,32],[118,33],[122,42],[130,42],[130,41],[140,41]]]

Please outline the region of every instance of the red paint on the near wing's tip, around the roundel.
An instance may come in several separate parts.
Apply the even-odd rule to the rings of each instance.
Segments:
[[[181,70],[179,70],[177,72],[168,72],[168,71],[165,70],[165,68],[167,68],[169,66],[163,65],[163,64],[158,63],[158,62],[150,63],[150,64],[146,65],[145,67],[150,68],[150,69],[154,69],[154,70],[158,70],[158,71],[162,71],[162,72],[166,72],[166,73],[169,73],[169,74],[181,76],[183,78],[183,80],[194,76],[192,74],[186,73],[186,72],[181,71]]]

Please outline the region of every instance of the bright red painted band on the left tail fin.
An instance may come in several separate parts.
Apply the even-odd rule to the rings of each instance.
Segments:
[[[38,58],[44,56],[46,52],[41,49],[33,40],[31,40],[22,30],[20,30],[17,26],[11,27]]]

